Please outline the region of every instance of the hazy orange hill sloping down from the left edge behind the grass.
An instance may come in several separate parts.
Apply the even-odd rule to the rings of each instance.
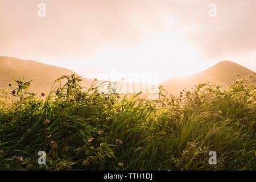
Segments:
[[[0,89],[8,88],[9,83],[15,85],[13,78],[24,78],[24,81],[31,81],[28,92],[48,94],[53,82],[63,75],[72,75],[70,69],[55,67],[31,60],[21,60],[14,57],[0,56]],[[82,78],[82,86],[90,86],[90,79]]]

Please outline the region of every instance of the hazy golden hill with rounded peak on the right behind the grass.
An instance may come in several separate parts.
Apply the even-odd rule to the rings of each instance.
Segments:
[[[251,71],[232,61],[221,61],[216,65],[206,69],[203,72],[197,73],[192,76],[174,77],[161,82],[160,85],[168,91],[168,93],[174,96],[179,96],[179,93],[184,88],[192,88],[193,86],[209,82],[210,84],[216,84],[227,88],[230,82],[233,82],[234,78],[239,78],[253,74]],[[238,77],[238,74],[240,76]]]

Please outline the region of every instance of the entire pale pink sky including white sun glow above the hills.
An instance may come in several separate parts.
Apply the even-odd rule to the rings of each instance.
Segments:
[[[255,0],[0,0],[0,56],[152,83],[223,60],[256,71],[255,18]]]

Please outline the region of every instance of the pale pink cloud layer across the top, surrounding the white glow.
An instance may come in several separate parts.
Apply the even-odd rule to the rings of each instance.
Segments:
[[[44,0],[45,18],[38,16],[40,2],[0,1],[1,55],[84,57],[109,44],[143,42],[164,29],[167,17],[205,59],[256,48],[255,0]],[[211,2],[216,17],[208,15]]]

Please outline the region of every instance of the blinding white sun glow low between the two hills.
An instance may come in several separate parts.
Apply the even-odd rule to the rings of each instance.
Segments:
[[[133,82],[127,76],[131,73],[158,74],[159,81],[147,81],[152,84],[175,76],[192,75],[208,66],[196,49],[174,34],[172,28],[158,34],[148,33],[143,42],[134,46],[105,45],[88,59],[99,68],[99,75],[110,75],[110,70],[114,69],[114,80],[126,77],[126,81]]]

